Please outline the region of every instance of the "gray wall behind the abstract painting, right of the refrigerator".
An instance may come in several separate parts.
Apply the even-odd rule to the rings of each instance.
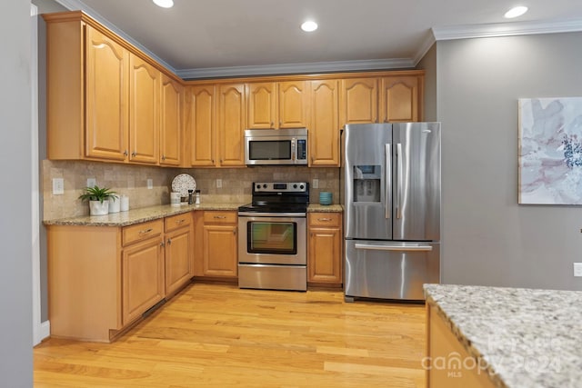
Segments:
[[[437,43],[443,282],[582,290],[582,208],[517,204],[517,98],[582,95],[582,33]]]

